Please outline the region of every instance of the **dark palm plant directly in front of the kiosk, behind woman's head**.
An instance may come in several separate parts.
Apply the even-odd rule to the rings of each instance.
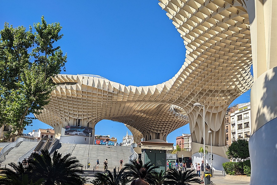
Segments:
[[[146,168],[147,171],[147,175],[144,180],[147,181],[150,185],[155,185],[155,169],[159,167],[155,166],[154,163],[151,163],[151,161],[148,161],[143,165],[142,160],[139,159],[138,162],[136,160],[133,160],[131,161],[131,163],[126,163],[122,169],[124,171],[126,170],[124,175],[130,177],[130,181],[132,181],[139,178],[139,170],[141,168]]]

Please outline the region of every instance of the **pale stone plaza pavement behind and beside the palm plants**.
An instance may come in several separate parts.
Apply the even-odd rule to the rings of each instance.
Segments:
[[[96,172],[103,172],[103,170],[99,169],[94,172],[93,172],[93,169],[84,170],[83,176],[87,176],[89,178],[89,181],[91,181],[92,179],[94,179],[94,174]],[[250,177],[235,176],[235,175],[226,175],[224,177],[222,174],[222,171],[215,171],[214,176],[211,177],[211,181],[213,181],[213,184],[215,185],[232,185],[232,184],[249,185]],[[88,182],[87,184],[91,184],[91,183]],[[191,184],[198,185],[198,183],[191,183]]]

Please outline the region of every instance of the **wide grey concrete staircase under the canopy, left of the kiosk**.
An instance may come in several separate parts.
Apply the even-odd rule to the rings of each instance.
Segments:
[[[60,143],[61,147],[57,150],[59,153],[62,153],[64,156],[68,153],[68,149],[72,144]],[[74,150],[73,150],[74,148]],[[87,165],[87,154],[88,154],[88,145],[85,144],[73,144],[71,147],[72,156],[77,157],[81,164],[85,167]],[[123,164],[128,163],[129,156],[132,153],[130,152],[130,147],[126,146],[106,146],[101,145],[90,145],[90,154],[89,154],[89,162],[90,169],[93,169],[93,166],[96,165],[96,160],[99,159],[99,170],[103,169],[103,162],[107,158],[108,159],[108,169],[112,170],[115,166],[116,169],[119,167],[119,160],[123,159]]]

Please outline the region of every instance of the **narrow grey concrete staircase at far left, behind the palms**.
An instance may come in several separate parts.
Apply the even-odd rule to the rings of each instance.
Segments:
[[[8,167],[8,163],[14,162],[17,164],[18,159],[26,154],[28,151],[30,151],[34,146],[36,146],[38,142],[28,142],[28,141],[23,141],[18,147],[13,148],[10,150],[10,152],[6,155],[6,159],[4,162],[1,163],[1,167]]]

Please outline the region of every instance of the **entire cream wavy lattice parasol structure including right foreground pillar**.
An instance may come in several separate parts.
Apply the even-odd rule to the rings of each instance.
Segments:
[[[212,143],[211,134],[205,135],[206,144],[213,145],[218,158],[226,158],[226,109],[252,88],[250,184],[275,182],[274,170],[262,166],[277,163],[277,1],[159,1],[187,48],[172,79],[136,87],[95,75],[58,75],[49,105],[36,117],[53,126],[56,137],[67,125],[94,129],[103,119],[122,122],[135,142],[166,141],[169,133],[189,123],[192,154],[203,145],[204,117],[205,130],[212,134]],[[205,115],[195,103],[205,106]]]

